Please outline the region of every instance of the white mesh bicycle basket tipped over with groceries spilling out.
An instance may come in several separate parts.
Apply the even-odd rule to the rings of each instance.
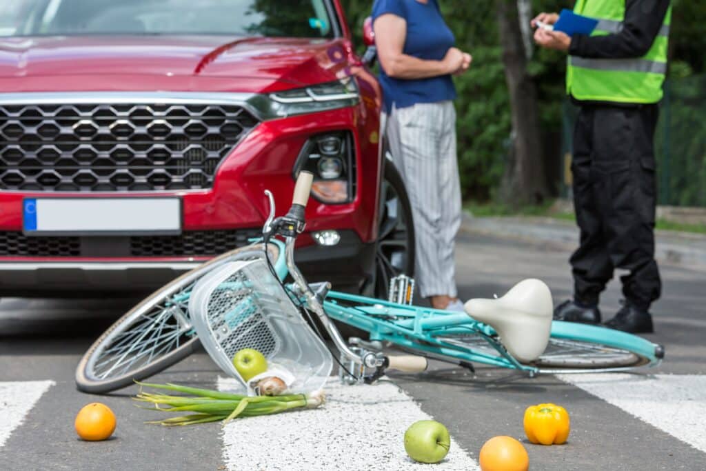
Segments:
[[[253,348],[268,359],[268,373],[291,393],[323,388],[333,366],[331,354],[268,269],[265,261],[226,263],[198,281],[189,300],[198,338],[229,376],[246,383],[233,365],[234,355]],[[284,376],[284,377],[283,377]]]

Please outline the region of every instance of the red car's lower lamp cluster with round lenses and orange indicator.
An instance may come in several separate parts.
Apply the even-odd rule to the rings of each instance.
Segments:
[[[312,136],[297,157],[292,176],[313,173],[311,194],[322,203],[349,203],[355,197],[356,169],[353,136],[348,131]]]

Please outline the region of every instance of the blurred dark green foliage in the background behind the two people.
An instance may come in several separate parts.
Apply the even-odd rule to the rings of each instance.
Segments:
[[[456,109],[458,115],[458,157],[462,187],[466,198],[478,201],[493,199],[500,184],[505,165],[505,156],[510,143],[510,109],[508,91],[502,64],[502,49],[498,38],[496,20],[496,1],[514,0],[439,0],[446,21],[456,36],[457,47],[473,55],[473,64],[464,76],[455,78],[458,90]],[[362,52],[361,32],[363,20],[369,16],[371,0],[341,0],[345,8],[348,23],[354,35],[354,43]],[[706,66],[706,8],[701,1],[673,0],[674,14],[671,28],[671,70],[672,82],[689,80],[690,77],[703,73]],[[560,11],[572,8],[573,1],[532,0],[534,13],[541,11]],[[566,73],[566,55],[546,49],[533,48],[528,71],[537,83],[539,109],[542,129],[545,130],[545,153],[551,177],[560,177],[559,156],[561,141],[563,103],[566,100],[564,74]],[[692,79],[693,80],[693,79]],[[703,81],[697,81],[703,85]],[[702,104],[706,101],[705,90],[700,85],[684,85],[681,93],[700,93]],[[697,90],[698,89],[698,90]],[[678,153],[681,158],[690,160],[691,167],[704,168],[704,155],[700,139],[682,136],[677,133],[693,133],[694,129],[703,129],[706,122],[706,107],[698,105],[683,107],[685,100],[671,106],[670,114],[674,129],[671,145],[678,141],[678,150],[672,150],[672,158]],[[699,120],[699,117],[701,119]],[[681,127],[684,126],[684,127]],[[698,126],[698,127],[694,127]],[[691,130],[691,131],[689,131]],[[701,153],[699,153],[701,152]],[[698,157],[695,157],[698,155]],[[688,174],[685,174],[685,176]],[[706,181],[688,179],[687,186],[692,193],[704,194]],[[677,183],[678,181],[678,183]],[[700,185],[699,185],[700,183]],[[685,184],[675,180],[672,185]],[[706,198],[706,196],[703,196]],[[697,198],[698,199],[698,198]],[[683,201],[695,201],[693,196],[684,197]],[[706,203],[701,203],[706,204]]]

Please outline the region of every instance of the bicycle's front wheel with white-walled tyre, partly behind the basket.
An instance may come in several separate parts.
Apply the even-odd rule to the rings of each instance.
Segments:
[[[273,263],[279,247],[268,246]],[[103,394],[130,386],[189,356],[197,345],[189,318],[189,297],[196,282],[222,263],[264,256],[262,244],[229,251],[150,294],[121,316],[83,355],[76,367],[76,387]]]

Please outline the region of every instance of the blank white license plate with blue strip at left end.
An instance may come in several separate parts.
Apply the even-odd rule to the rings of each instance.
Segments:
[[[180,234],[179,198],[25,198],[25,234]]]

